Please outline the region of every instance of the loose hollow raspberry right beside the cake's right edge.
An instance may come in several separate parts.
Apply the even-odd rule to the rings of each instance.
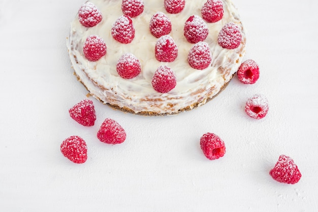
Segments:
[[[239,81],[244,84],[254,84],[260,77],[259,65],[254,60],[245,60],[237,70]]]

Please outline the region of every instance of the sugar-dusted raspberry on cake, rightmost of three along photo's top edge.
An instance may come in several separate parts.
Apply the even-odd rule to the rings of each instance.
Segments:
[[[201,9],[202,18],[210,23],[221,20],[223,13],[223,3],[221,0],[208,0]]]

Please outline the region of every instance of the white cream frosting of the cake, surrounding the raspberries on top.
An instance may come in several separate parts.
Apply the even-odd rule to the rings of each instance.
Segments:
[[[211,66],[198,70],[190,67],[187,55],[194,44],[183,35],[185,21],[192,15],[201,16],[201,8],[206,0],[188,0],[179,14],[169,14],[163,0],[144,0],[144,11],[132,18],[135,38],[130,44],[121,44],[111,36],[111,27],[122,15],[119,0],[91,0],[103,15],[102,21],[93,27],[85,27],[78,21],[78,15],[71,23],[67,46],[75,73],[89,92],[104,103],[120,108],[155,114],[174,114],[180,110],[192,109],[204,104],[229,82],[237,71],[245,53],[245,33],[237,9],[230,0],[222,0],[224,16],[216,23],[207,23],[207,42],[212,52]],[[164,12],[172,22],[169,35],[178,47],[178,57],[173,62],[157,61],[154,47],[157,38],[149,30],[151,17]],[[223,49],[217,43],[220,29],[228,22],[236,23],[242,34],[241,45],[232,50]],[[104,39],[107,54],[96,62],[88,61],[83,55],[83,44],[88,36],[97,34]],[[118,59],[124,53],[134,54],[141,62],[141,73],[133,79],[123,79],[116,71]],[[168,93],[158,93],[151,85],[152,76],[160,65],[168,65],[174,70],[177,85]]]

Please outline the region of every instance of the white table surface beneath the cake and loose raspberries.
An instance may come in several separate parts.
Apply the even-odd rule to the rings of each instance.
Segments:
[[[66,48],[83,0],[0,1],[0,211],[318,211],[318,2],[234,0],[247,30],[245,59],[260,65],[254,85],[237,78],[214,100],[171,117],[124,114],[93,99],[97,121],[83,127],[68,109],[87,91]],[[263,93],[268,115],[245,101]],[[105,118],[126,130],[101,143]],[[199,140],[218,134],[226,155],[205,158]],[[60,153],[63,139],[86,140],[88,159]],[[302,178],[274,181],[279,155]]]

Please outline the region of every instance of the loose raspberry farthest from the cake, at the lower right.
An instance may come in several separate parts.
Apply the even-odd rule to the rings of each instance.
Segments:
[[[269,171],[269,174],[275,181],[280,183],[295,184],[301,178],[301,173],[295,164],[294,160],[285,155],[280,155],[274,168]]]

